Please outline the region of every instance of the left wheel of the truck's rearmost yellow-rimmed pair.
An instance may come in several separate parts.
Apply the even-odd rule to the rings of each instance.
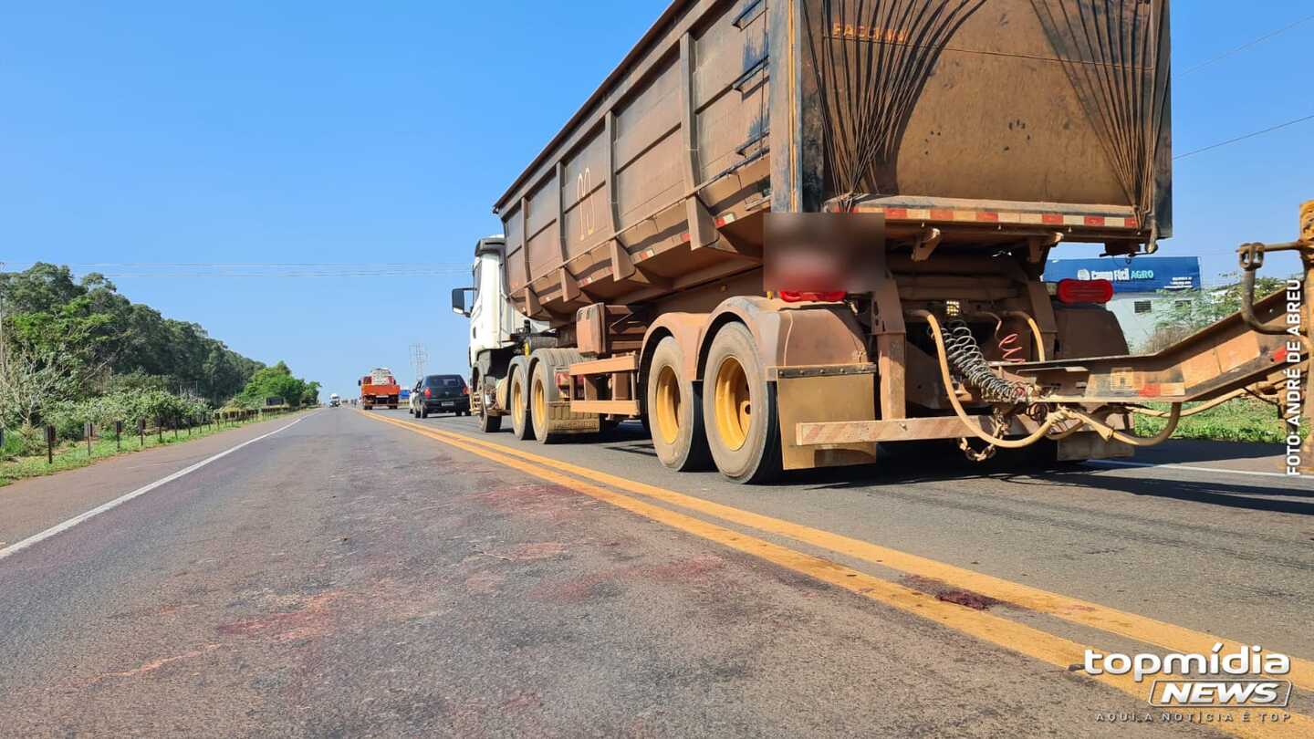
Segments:
[[[711,451],[703,429],[703,402],[685,370],[685,352],[675,337],[657,343],[648,370],[648,429],[657,459],[670,469],[707,469]]]

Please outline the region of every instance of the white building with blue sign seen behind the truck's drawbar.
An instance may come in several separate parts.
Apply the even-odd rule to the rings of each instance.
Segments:
[[[1198,256],[1100,256],[1095,259],[1051,259],[1045,266],[1045,281],[1109,280],[1113,300],[1109,310],[1118,317],[1131,351],[1154,334],[1163,314],[1172,306],[1175,292],[1201,288]],[[1169,295],[1166,295],[1169,293]]]

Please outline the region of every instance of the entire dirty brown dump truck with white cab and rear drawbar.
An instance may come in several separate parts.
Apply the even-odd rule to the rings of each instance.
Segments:
[[[640,418],[668,467],[763,481],[929,439],[1125,456],[1166,437],[1133,433],[1146,401],[1171,433],[1272,394],[1306,342],[1285,296],[1127,356],[1112,285],[1042,281],[1055,249],[1171,237],[1168,43],[1167,0],[677,0],[453,296],[522,321],[472,339],[485,430]]]

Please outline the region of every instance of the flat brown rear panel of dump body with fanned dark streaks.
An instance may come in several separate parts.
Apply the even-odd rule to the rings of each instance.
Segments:
[[[802,101],[825,199],[1155,210],[1164,0],[802,0]],[[850,159],[861,159],[851,162]]]

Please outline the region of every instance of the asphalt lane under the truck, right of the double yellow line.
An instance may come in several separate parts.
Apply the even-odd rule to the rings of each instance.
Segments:
[[[1277,458],[1256,459],[1263,447],[1173,442],[1134,460],[1208,468],[1198,472],[1089,464],[1037,473],[1003,455],[987,464],[953,451],[932,462],[891,455],[742,487],[662,468],[637,425],[602,443],[544,446],[481,434],[470,418],[419,423],[1314,656],[1314,481],[1267,475]]]

